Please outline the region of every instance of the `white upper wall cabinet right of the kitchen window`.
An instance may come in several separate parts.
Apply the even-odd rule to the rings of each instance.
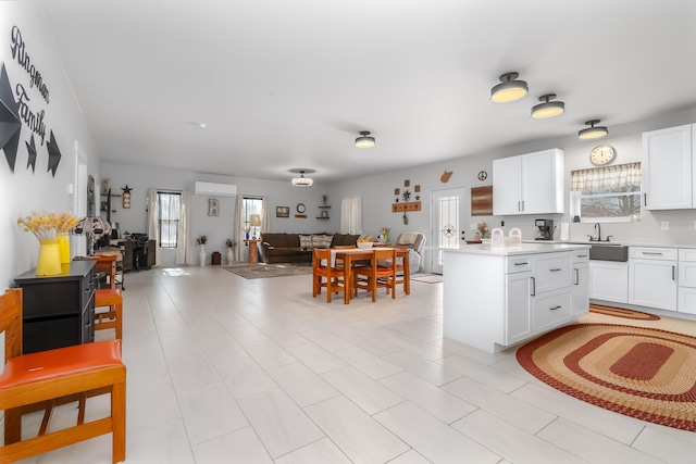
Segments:
[[[643,198],[647,210],[696,208],[696,124],[643,134]]]

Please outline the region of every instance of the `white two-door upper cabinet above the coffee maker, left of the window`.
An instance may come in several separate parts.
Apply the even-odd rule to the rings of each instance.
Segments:
[[[493,214],[563,212],[563,151],[557,148],[493,162]]]

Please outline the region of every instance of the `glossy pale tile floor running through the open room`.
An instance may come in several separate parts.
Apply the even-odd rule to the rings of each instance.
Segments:
[[[514,350],[443,340],[442,284],[326,304],[310,276],[206,266],[130,273],[126,288],[129,464],[696,462],[696,434],[564,396]],[[110,463],[110,439],[23,462]]]

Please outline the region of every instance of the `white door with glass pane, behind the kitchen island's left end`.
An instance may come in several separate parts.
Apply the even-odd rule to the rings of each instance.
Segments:
[[[431,211],[431,236],[435,247],[456,248],[462,243],[464,230],[471,221],[471,192],[453,188],[433,191]],[[431,271],[443,273],[443,252],[431,253]]]

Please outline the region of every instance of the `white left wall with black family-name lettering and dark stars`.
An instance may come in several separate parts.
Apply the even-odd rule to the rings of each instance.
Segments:
[[[36,87],[29,87],[27,72],[12,58],[10,38],[13,26],[20,28],[26,46],[25,51],[49,88],[49,103],[42,99]],[[100,167],[95,143],[79,104],[74,99],[60,55],[37,2],[0,2],[0,61],[5,66],[13,91],[17,84],[22,84],[30,98],[30,110],[46,111],[46,142],[52,130],[62,153],[53,177],[47,172],[46,142],[41,146],[40,139],[35,136],[38,152],[36,172],[27,168],[28,153],[25,141],[29,140],[32,133],[25,124],[21,129],[14,174],[10,171],[4,152],[0,152],[0,287],[1,291],[4,291],[4,288],[14,286],[15,276],[36,266],[38,255],[38,241],[30,233],[24,233],[17,226],[17,217],[33,211],[74,211],[74,195],[69,193],[69,187],[75,183],[75,142],[79,143],[86,155],[89,174],[97,180]]]

